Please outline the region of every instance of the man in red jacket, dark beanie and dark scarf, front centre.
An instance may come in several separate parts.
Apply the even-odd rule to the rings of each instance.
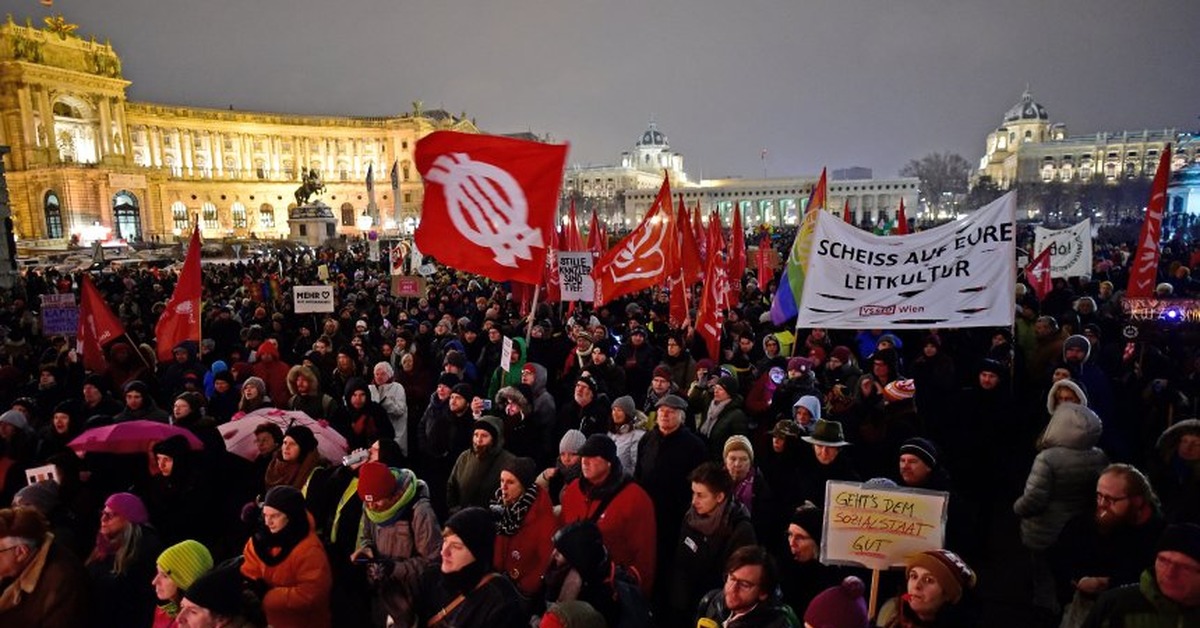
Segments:
[[[622,468],[617,443],[608,436],[589,436],[580,459],[583,474],[563,491],[562,524],[595,521],[612,561],[635,572],[649,596],[658,562],[655,504]]]

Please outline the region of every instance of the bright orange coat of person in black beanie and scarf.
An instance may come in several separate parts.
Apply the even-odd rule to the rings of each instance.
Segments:
[[[312,515],[308,533],[278,564],[266,564],[246,542],[241,575],[266,584],[263,612],[271,628],[325,628],[332,626],[329,593],[334,585],[325,548],[322,546]]]

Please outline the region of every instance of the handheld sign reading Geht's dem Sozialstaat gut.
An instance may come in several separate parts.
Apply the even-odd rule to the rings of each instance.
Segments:
[[[913,554],[941,549],[948,502],[949,494],[942,491],[829,480],[821,562],[887,569]]]

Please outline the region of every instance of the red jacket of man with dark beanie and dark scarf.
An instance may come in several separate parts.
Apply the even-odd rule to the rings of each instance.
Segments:
[[[583,478],[572,480],[563,489],[563,509],[559,514],[562,525],[590,519],[600,506],[600,494],[619,482],[611,474],[600,486],[588,485],[587,492],[581,488]],[[599,489],[599,490],[598,490]],[[654,586],[656,527],[654,521],[654,502],[649,495],[634,482],[628,482],[620,492],[608,503],[596,521],[604,544],[608,548],[612,562],[632,568],[641,579],[642,592],[649,597]]]

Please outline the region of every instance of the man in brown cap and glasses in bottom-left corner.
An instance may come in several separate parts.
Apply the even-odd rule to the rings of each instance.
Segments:
[[[91,582],[32,508],[0,510],[0,626],[88,626]]]

